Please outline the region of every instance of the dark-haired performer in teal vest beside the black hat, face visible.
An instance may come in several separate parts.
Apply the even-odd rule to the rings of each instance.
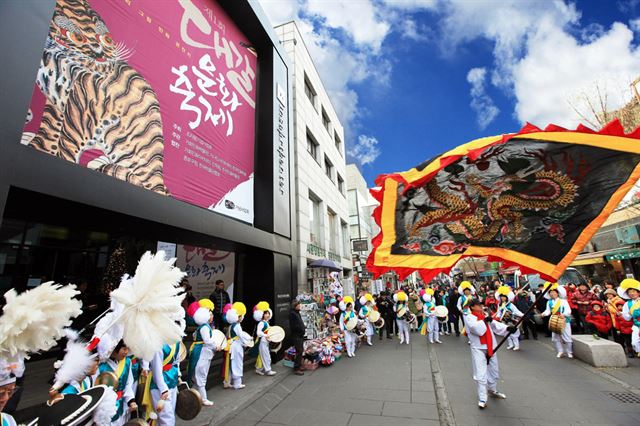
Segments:
[[[104,336],[98,343],[100,373],[109,372],[115,374],[118,385],[113,389],[116,392],[116,414],[111,418],[112,426],[122,426],[129,419],[129,413],[138,408],[133,388],[133,375],[131,374],[131,359],[128,357],[129,348],[123,340],[113,341]]]

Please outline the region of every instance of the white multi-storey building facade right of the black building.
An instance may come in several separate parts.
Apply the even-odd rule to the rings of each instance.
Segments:
[[[352,269],[346,192],[344,129],[295,22],[275,27],[293,64],[293,141],[298,219],[298,290],[318,291],[326,272],[308,268],[329,259]]]

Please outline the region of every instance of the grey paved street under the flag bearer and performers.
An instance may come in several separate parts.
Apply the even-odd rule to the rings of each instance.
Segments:
[[[355,359],[294,376],[278,366],[276,378],[245,373],[242,391],[210,390],[215,408],[181,425],[568,425],[640,424],[640,403],[622,403],[609,393],[640,396],[640,362],[626,369],[594,369],[555,358],[548,339],[524,341],[519,353],[500,351],[506,401],[476,407],[465,339],[445,336],[432,374],[424,338],[411,346],[396,340],[361,347]],[[444,392],[436,397],[438,365]],[[245,370],[247,371],[247,370]],[[448,401],[448,403],[447,403]]]

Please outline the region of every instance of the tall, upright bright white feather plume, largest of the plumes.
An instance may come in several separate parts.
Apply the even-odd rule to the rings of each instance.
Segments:
[[[184,335],[176,321],[184,317],[179,283],[185,273],[173,266],[175,261],[165,260],[162,251],[146,252],[131,285],[111,292],[111,298],[123,306],[118,321],[124,326],[124,342],[141,359],[152,359],[163,345],[174,344]]]

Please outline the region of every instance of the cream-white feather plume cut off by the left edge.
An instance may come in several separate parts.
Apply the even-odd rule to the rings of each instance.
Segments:
[[[71,325],[71,318],[82,313],[82,302],[74,298],[77,294],[76,286],[53,281],[21,294],[6,292],[0,316],[0,356],[51,349]]]

